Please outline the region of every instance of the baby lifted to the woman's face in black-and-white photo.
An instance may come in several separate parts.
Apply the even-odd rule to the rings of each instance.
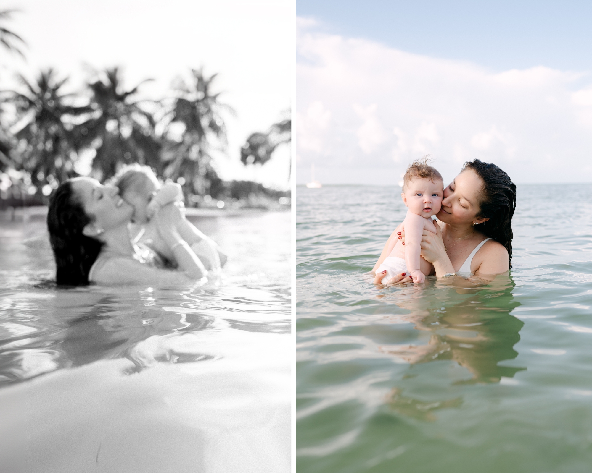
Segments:
[[[161,186],[152,169],[139,164],[121,169],[114,177],[113,184],[119,188],[120,196],[133,206],[132,221],[141,226],[135,242],[150,247],[169,263],[175,261],[169,246],[160,237],[153,217],[161,207],[182,200],[181,186],[172,182]],[[206,270],[217,270],[226,263],[227,257],[218,245],[186,218],[176,225],[176,230],[200,258]]]

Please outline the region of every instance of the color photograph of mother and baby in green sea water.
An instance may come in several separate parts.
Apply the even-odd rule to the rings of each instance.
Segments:
[[[590,471],[591,18],[298,0],[298,473]]]

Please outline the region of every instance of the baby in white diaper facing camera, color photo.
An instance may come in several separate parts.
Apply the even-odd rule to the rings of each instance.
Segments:
[[[440,173],[428,166],[425,161],[413,161],[403,177],[403,202],[407,215],[403,221],[405,244],[395,239],[388,248],[388,257],[378,267],[377,273],[387,271],[382,282],[387,282],[397,274],[410,274],[414,283],[423,283],[431,270],[430,264],[421,258],[423,231],[436,233],[432,216],[440,212],[444,181]],[[435,218],[435,217],[434,217]]]

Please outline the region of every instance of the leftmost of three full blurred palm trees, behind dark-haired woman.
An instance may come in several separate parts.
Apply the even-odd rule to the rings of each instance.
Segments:
[[[71,94],[61,91],[67,78],[58,79],[51,68],[42,71],[33,83],[21,75],[18,79],[24,92],[8,91],[3,99],[14,105],[17,114],[18,131],[10,156],[15,169],[30,173],[40,193],[44,183],[55,187],[75,174],[73,121],[89,108],[69,103]]]

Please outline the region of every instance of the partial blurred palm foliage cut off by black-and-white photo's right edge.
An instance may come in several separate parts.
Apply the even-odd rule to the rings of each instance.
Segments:
[[[292,141],[292,119],[285,118],[271,125],[265,133],[255,132],[249,135],[240,149],[240,160],[245,166],[256,163],[265,164],[271,159],[279,145],[290,141]],[[289,173],[291,170],[292,166],[290,166]]]

